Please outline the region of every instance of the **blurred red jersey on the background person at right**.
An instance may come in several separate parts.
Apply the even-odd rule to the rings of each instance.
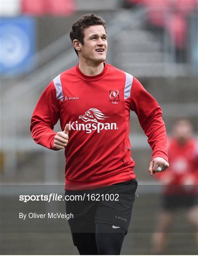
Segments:
[[[165,194],[195,194],[198,185],[198,152],[194,138],[185,144],[171,138],[168,146],[170,167],[166,172],[156,174],[161,180]]]

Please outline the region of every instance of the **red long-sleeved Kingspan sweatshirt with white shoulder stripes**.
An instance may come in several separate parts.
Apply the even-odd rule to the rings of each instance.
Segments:
[[[68,123],[65,188],[94,189],[134,179],[129,141],[130,110],[138,115],[153,155],[168,161],[162,110],[132,75],[104,64],[95,76],[75,66],[44,90],[31,120],[34,141],[53,149],[54,125]]]

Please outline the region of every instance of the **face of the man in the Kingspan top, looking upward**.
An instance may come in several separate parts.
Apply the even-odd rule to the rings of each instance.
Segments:
[[[107,35],[102,25],[94,25],[84,30],[84,45],[81,44],[79,58],[100,64],[106,60]]]

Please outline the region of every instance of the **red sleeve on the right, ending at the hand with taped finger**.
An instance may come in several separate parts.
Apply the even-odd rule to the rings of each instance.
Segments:
[[[148,143],[153,150],[152,159],[160,156],[168,161],[167,135],[162,119],[162,110],[142,84],[133,78],[131,88],[131,110],[135,111]]]

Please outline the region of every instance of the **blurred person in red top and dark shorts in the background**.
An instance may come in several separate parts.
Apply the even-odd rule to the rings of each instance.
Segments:
[[[156,174],[163,185],[162,210],[153,234],[153,253],[163,254],[168,232],[177,210],[186,208],[187,219],[198,232],[198,148],[192,124],[178,120],[168,146],[170,168]],[[198,233],[196,233],[198,243]]]

